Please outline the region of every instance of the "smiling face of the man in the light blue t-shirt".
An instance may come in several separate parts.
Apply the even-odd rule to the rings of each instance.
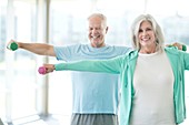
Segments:
[[[105,46],[105,35],[108,28],[103,24],[99,17],[92,17],[89,19],[89,33],[88,38],[93,48]]]

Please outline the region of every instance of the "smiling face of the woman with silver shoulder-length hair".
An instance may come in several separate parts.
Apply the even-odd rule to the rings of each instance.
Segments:
[[[143,21],[140,24],[138,38],[141,49],[156,46],[155,32],[149,21]]]

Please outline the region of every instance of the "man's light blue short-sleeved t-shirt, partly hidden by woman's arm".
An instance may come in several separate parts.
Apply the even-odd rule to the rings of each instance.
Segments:
[[[103,60],[126,54],[126,46],[92,48],[89,44],[54,46],[57,60]],[[119,76],[117,74],[72,72],[72,113],[117,114],[119,104]]]

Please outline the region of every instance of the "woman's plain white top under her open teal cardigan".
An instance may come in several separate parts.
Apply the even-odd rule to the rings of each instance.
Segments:
[[[166,53],[141,54],[133,74],[135,97],[129,125],[176,125],[173,72]]]

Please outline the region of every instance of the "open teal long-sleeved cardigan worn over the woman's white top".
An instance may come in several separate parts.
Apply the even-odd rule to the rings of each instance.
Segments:
[[[189,70],[189,53],[175,48],[165,49],[175,75],[173,103],[176,123],[182,123],[186,118],[185,104],[185,70]],[[56,64],[56,71],[90,71],[120,74],[121,100],[120,100],[120,125],[129,125],[132,110],[132,97],[135,94],[132,82],[138,51],[131,51],[126,55],[120,55],[109,60],[79,61],[71,63]],[[163,71],[162,71],[163,72]]]

